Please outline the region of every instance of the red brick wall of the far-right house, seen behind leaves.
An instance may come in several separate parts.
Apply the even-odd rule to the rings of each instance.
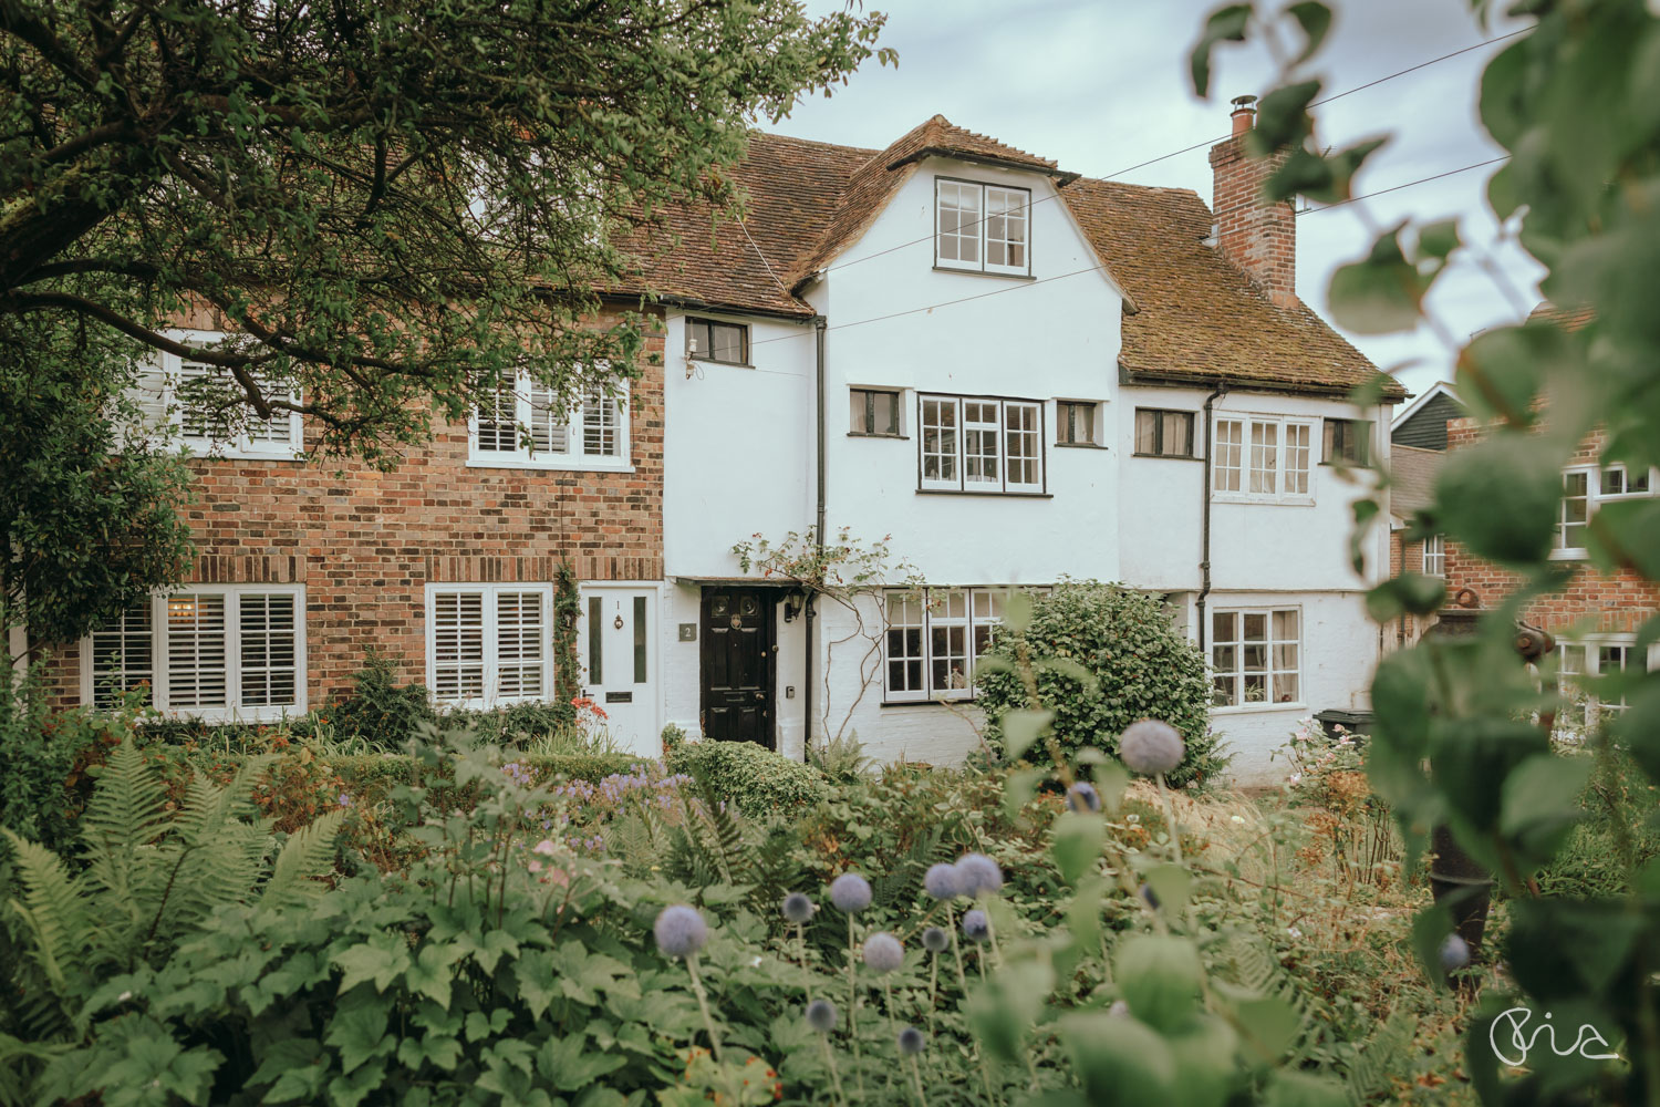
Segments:
[[[1476,420],[1448,420],[1448,450],[1467,446],[1481,438],[1482,428]],[[1570,465],[1590,465],[1602,455],[1607,436],[1594,432],[1580,443]],[[1448,541],[1448,594],[1456,594],[1461,588],[1474,589],[1482,607],[1494,607],[1509,594],[1517,576],[1499,566],[1481,561]],[[1632,632],[1645,619],[1660,609],[1660,588],[1643,581],[1632,569],[1618,569],[1612,574],[1597,573],[1589,563],[1565,563],[1577,568],[1567,588],[1549,596],[1542,596],[1527,606],[1524,619],[1547,631],[1560,631],[1570,624],[1585,621],[1585,631]],[[1594,622],[1595,626],[1589,626]]]

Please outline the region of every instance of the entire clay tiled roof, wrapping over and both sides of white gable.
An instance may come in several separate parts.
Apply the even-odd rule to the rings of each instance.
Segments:
[[[749,196],[744,224],[717,221],[707,206],[667,212],[661,227],[627,244],[641,267],[637,284],[622,290],[810,317],[813,309],[793,290],[857,242],[933,154],[1057,178],[1067,207],[1125,292],[1120,360],[1130,380],[1341,393],[1376,372],[1306,305],[1277,305],[1205,246],[1212,216],[1192,191],[1072,179],[1046,158],[964,131],[945,116],[881,151],[752,134],[745,161],[734,169]],[[837,322],[843,320],[830,325]],[[1404,395],[1393,385],[1386,398]]]

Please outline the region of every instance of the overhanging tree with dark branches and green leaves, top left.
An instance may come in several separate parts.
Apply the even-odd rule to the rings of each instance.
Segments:
[[[3,0],[0,360],[71,322],[181,354],[164,327],[208,310],[237,335],[194,354],[226,405],[388,463],[503,373],[569,397],[637,349],[579,325],[649,292],[619,242],[737,202],[745,119],[845,80],[880,27],[788,0]]]

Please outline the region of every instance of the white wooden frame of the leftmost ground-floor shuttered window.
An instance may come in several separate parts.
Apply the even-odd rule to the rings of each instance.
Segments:
[[[168,602],[183,596],[222,596],[224,597],[224,705],[212,707],[174,707],[171,695],[171,672],[168,667],[169,626]],[[244,596],[292,596],[294,597],[294,702],[292,704],[259,704],[242,705],[242,597]],[[149,611],[149,702],[169,719],[199,719],[208,724],[221,722],[279,722],[284,717],[304,715],[305,705],[305,586],[304,584],[179,584],[178,588],[151,593],[144,601]],[[93,666],[95,639],[108,629],[95,631],[81,639],[81,702],[96,705],[98,674]]]

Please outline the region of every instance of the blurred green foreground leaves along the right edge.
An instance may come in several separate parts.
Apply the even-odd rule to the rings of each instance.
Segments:
[[[1487,15],[1491,5],[1472,7]],[[1237,33],[1217,33],[1213,18],[1195,48],[1195,73],[1208,71],[1217,43],[1278,30],[1277,17],[1253,5],[1230,10],[1227,30]],[[1434,503],[1414,518],[1406,538],[1443,533],[1464,551],[1516,571],[1521,583],[1482,617],[1477,634],[1431,637],[1379,666],[1368,768],[1411,848],[1421,850],[1431,827],[1446,825],[1517,898],[1502,951],[1516,992],[1489,996],[1469,1032],[1467,1064],[1482,1099],[1567,1102],[1565,1095],[1585,1094],[1582,1102],[1657,1104],[1660,908],[1653,896],[1660,868],[1638,856],[1627,833],[1618,845],[1622,883],[1630,890],[1625,901],[1537,896],[1529,876],[1560,850],[1582,815],[1577,800],[1589,757],[1607,768],[1628,753],[1660,783],[1660,672],[1635,666],[1604,677],[1602,699],[1623,697],[1628,709],[1594,735],[1590,753],[1565,755],[1549,747],[1544,729],[1557,702],[1540,692],[1550,680],[1517,659],[1514,619],[1575,573],[1660,581],[1660,500],[1653,496],[1610,503],[1589,516],[1589,563],[1555,561],[1550,549],[1562,511],[1560,471],[1587,438],[1600,435],[1604,465],[1640,473],[1660,463],[1660,315],[1652,305],[1660,272],[1660,13],[1642,0],[1536,0],[1512,13],[1534,25],[1482,73],[1481,119],[1509,154],[1487,184],[1487,202],[1549,269],[1542,290],[1575,325],[1542,315],[1451,350],[1459,395],[1487,433],[1449,460]],[[1303,76],[1301,60],[1288,63],[1282,85]],[[1306,95],[1280,103],[1295,101],[1288,111],[1301,115],[1318,90],[1311,81]],[[1353,169],[1376,148],[1323,156],[1306,116],[1277,133],[1280,149],[1290,149],[1286,166],[1298,168],[1301,183],[1326,189],[1320,199],[1346,199]],[[1310,193],[1300,181],[1282,173],[1270,191],[1277,199]],[[1331,310],[1360,332],[1428,320],[1448,334],[1426,297],[1459,252],[1489,261],[1461,239],[1454,221],[1388,229],[1365,257],[1333,276]],[[1376,506],[1370,518],[1379,518]],[[1428,612],[1439,594],[1384,588],[1374,593],[1373,611],[1378,617],[1403,606]],[[1637,632],[1637,656],[1657,637],[1660,617],[1650,614]],[[1552,666],[1545,659],[1545,677]],[[1532,722],[1536,715],[1544,729]],[[1597,797],[1614,825],[1632,825],[1635,817],[1617,792],[1597,788]],[[1444,916],[1426,913],[1419,949],[1433,954],[1446,931]],[[1439,978],[1434,958],[1426,961]],[[1554,1011],[1564,1039],[1575,1026],[1594,1027],[1627,1064],[1587,1061],[1585,1051],[1562,1041],[1565,1056],[1540,1046],[1529,1054],[1524,1077],[1506,1079],[1487,1031],[1517,1002],[1531,1004],[1534,1014]]]

